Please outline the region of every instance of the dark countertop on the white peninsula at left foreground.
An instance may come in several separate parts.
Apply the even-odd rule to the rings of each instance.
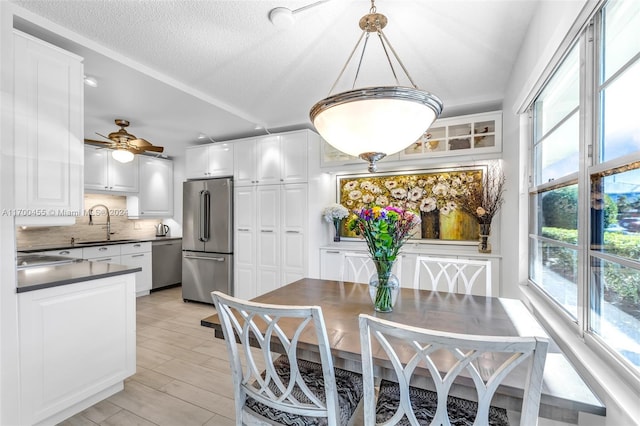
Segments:
[[[40,290],[61,285],[142,271],[138,266],[115,265],[82,260],[57,266],[40,266],[18,270],[16,292]]]

